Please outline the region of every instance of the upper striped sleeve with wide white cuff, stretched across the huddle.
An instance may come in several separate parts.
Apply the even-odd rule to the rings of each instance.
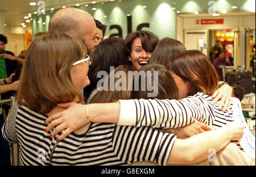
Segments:
[[[181,100],[135,99],[119,100],[121,111],[118,125],[152,128],[178,128],[195,120],[212,123],[214,114],[207,100],[189,96]]]

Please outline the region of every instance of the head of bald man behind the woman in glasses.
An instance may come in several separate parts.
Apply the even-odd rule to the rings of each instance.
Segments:
[[[95,47],[99,45],[97,40],[97,27],[92,15],[88,12],[68,7],[57,11],[49,21],[49,33],[67,32],[81,39],[89,56]]]

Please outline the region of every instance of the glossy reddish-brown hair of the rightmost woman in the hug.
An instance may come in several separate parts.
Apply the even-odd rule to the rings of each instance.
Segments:
[[[188,84],[188,95],[203,92],[212,95],[218,85],[218,75],[209,58],[199,50],[187,50],[165,63],[168,70],[173,71]]]

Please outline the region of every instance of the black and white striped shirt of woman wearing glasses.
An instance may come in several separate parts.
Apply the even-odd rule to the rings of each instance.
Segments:
[[[2,133],[7,141],[18,142],[21,165],[128,165],[135,161],[166,165],[176,139],[151,127],[92,123],[85,133],[73,132],[56,145],[56,137],[44,132],[46,119],[25,106],[15,104],[11,109]]]

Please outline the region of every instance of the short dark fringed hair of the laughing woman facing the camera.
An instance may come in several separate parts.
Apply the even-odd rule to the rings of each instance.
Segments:
[[[142,48],[147,52],[153,52],[156,44],[159,41],[158,36],[150,31],[142,30],[128,33],[128,35],[125,37],[125,50],[127,56],[130,56],[131,46],[137,37],[141,37]]]

